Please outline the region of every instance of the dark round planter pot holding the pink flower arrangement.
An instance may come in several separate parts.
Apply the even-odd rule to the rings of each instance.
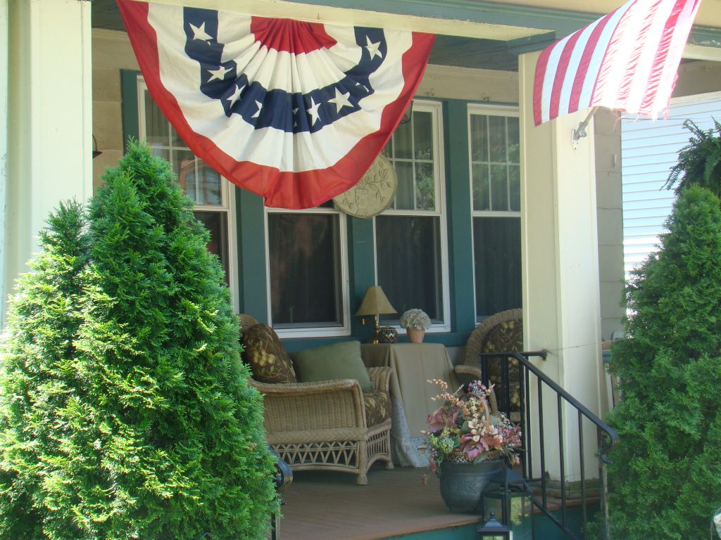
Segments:
[[[477,464],[441,463],[441,498],[451,512],[470,512],[480,508],[482,492],[490,477],[503,469],[505,459],[490,459]]]

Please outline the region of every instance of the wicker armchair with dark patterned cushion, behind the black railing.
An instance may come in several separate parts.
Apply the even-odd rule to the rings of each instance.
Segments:
[[[523,310],[506,310],[484,320],[471,333],[466,342],[466,354],[463,364],[455,367],[456,374],[462,382],[469,379],[483,377],[481,369],[480,354],[504,351],[523,351]],[[489,359],[488,379],[500,390],[501,381],[501,360]],[[510,387],[510,419],[518,421],[520,413],[520,384],[518,384],[518,361],[511,360],[509,365],[509,387]],[[492,395],[491,409],[496,411],[497,403],[495,395]]]

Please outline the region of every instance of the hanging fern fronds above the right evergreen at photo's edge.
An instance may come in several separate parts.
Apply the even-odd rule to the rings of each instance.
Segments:
[[[676,194],[688,186],[702,186],[721,198],[721,123],[704,131],[691,120],[684,127],[691,131],[689,144],[678,153],[678,162],[671,167],[665,187],[675,187]]]

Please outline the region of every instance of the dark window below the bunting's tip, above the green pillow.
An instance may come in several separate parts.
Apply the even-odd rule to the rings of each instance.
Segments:
[[[350,335],[345,215],[326,203],[265,216],[273,328],[283,338]]]

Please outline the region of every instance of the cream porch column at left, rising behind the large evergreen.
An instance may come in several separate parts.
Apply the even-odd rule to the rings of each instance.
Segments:
[[[48,212],[92,194],[92,73],[89,1],[0,0],[0,6],[8,29],[0,22],[0,35],[8,37],[2,50],[9,51],[4,323],[7,294],[37,252]]]

